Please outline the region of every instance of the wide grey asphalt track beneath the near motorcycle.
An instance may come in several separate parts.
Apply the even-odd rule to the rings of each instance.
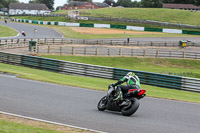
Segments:
[[[105,94],[0,75],[0,111],[109,133],[200,131],[200,104],[146,97],[133,116],[125,117],[97,110]]]

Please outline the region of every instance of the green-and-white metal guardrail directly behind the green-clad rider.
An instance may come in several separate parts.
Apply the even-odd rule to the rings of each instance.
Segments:
[[[200,92],[200,79],[196,78],[89,65],[5,52],[0,52],[0,62],[44,69],[64,74],[83,75],[114,80],[119,80],[127,72],[132,71],[139,76],[141,83],[143,84]]]

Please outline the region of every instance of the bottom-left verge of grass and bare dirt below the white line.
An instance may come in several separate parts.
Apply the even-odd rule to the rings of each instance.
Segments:
[[[0,114],[0,125],[0,133],[92,133],[5,114]]]

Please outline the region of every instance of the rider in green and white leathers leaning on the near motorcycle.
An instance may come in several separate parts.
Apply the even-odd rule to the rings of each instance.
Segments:
[[[127,85],[121,85],[126,82]],[[112,84],[112,86],[116,88],[116,98],[115,101],[123,101],[123,97],[128,96],[128,91],[130,89],[140,89],[140,79],[133,72],[128,72],[122,79],[120,79],[117,83]],[[121,105],[126,104],[126,102],[122,102]]]

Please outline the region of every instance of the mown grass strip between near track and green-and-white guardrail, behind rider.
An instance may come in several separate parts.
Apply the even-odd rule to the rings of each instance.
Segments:
[[[109,84],[116,82],[116,80],[64,75],[49,71],[42,71],[38,69],[2,64],[2,63],[0,63],[0,71],[17,74],[18,77],[26,79],[33,79],[43,82],[50,82],[55,84],[76,86],[76,87],[103,90],[103,91],[107,90],[107,86]],[[142,85],[142,88],[147,90],[147,96],[200,103],[199,93],[166,89],[149,85]]]

